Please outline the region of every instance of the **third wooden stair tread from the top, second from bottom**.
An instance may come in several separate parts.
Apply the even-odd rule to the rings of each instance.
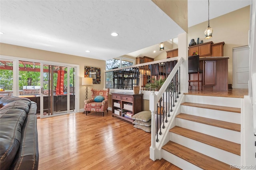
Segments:
[[[177,126],[169,131],[240,156],[241,145],[238,143]]]

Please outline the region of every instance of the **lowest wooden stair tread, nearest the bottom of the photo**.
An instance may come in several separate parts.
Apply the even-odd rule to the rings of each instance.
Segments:
[[[230,170],[230,165],[196,152],[190,148],[169,141],[162,149],[174,154],[204,170]]]

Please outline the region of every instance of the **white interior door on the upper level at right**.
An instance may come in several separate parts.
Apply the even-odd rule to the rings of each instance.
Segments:
[[[248,89],[250,48],[233,48],[233,89]]]

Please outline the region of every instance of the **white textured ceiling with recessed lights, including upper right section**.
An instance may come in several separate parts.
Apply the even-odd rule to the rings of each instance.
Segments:
[[[212,1],[219,8],[210,7],[211,18],[250,3],[229,0],[231,7],[223,0]],[[201,5],[206,6],[206,12]],[[188,0],[188,25],[208,20],[208,16],[202,15],[208,13],[207,7],[207,0]],[[215,12],[221,13],[215,16]],[[152,55],[144,51],[158,49],[160,42],[184,32],[151,0],[1,0],[0,31],[4,33],[0,34],[2,43],[102,60],[132,52],[134,57],[154,58],[159,50]],[[119,36],[110,36],[112,32]]]

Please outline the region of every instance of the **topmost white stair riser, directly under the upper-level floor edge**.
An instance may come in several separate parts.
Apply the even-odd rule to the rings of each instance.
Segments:
[[[235,97],[216,97],[200,95],[186,95],[185,97],[186,102],[190,103],[241,108],[241,99]]]

